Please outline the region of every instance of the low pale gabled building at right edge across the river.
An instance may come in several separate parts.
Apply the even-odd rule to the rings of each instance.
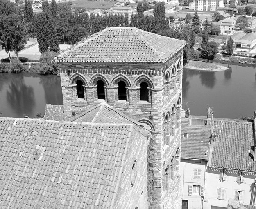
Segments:
[[[244,49],[252,49],[256,45],[255,33],[234,33],[232,36],[234,41],[234,47],[240,47]],[[227,41],[226,41],[227,42]]]

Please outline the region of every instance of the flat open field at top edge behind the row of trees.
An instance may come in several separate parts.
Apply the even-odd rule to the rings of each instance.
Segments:
[[[73,4],[71,8],[84,7],[86,10],[109,9],[115,4],[108,1],[86,1],[86,0],[75,0],[71,2]]]

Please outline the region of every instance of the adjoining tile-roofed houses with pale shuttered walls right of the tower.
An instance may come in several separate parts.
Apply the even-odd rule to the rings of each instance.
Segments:
[[[255,115],[249,121],[213,118],[208,108],[207,117],[182,118],[184,208],[227,208],[229,198],[255,204]]]

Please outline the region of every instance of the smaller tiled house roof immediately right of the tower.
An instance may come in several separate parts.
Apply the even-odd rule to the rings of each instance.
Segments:
[[[184,133],[188,134],[188,138],[183,137]],[[209,149],[210,136],[211,127],[182,125],[181,158],[208,160],[206,151]]]

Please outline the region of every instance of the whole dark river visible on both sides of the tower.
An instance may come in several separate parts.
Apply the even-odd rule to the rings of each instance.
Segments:
[[[227,64],[222,64],[228,66]],[[256,69],[229,65],[219,72],[199,72],[184,68],[183,109],[192,115],[206,116],[213,107],[214,116],[240,118],[253,116],[256,110]],[[0,73],[0,112],[5,117],[34,118],[44,113],[45,104],[63,104],[58,76],[36,73]]]

